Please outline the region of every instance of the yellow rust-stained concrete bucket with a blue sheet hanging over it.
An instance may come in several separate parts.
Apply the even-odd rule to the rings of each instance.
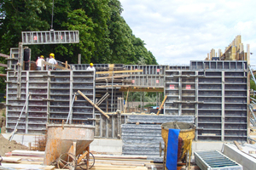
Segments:
[[[185,122],[166,122],[161,125],[161,135],[165,142],[164,148],[164,160],[163,164],[166,169],[166,151],[168,144],[168,133],[169,129],[180,129],[178,135],[178,150],[177,150],[177,161],[183,161],[186,167],[190,166],[190,159],[192,153],[192,140],[195,138],[195,125],[193,123]],[[162,152],[160,144],[160,156]]]

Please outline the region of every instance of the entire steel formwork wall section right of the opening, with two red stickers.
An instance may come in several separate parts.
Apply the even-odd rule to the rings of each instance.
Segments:
[[[166,71],[165,114],[194,115],[197,140],[247,140],[246,61],[191,61]]]

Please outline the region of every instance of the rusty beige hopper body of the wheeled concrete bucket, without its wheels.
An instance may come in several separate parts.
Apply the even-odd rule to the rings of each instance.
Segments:
[[[61,154],[69,152],[75,145],[75,156],[81,154],[94,139],[94,126],[74,124],[49,124],[44,165],[50,165]]]

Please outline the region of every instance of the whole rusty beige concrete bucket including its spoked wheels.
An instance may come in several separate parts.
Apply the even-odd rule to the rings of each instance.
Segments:
[[[89,169],[94,165],[90,143],[94,140],[94,126],[48,124],[44,165],[74,170],[77,166]]]

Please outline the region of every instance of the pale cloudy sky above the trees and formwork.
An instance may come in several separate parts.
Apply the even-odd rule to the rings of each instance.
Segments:
[[[160,65],[189,65],[237,35],[256,65],[255,0],[119,0],[133,34],[146,43]]]

